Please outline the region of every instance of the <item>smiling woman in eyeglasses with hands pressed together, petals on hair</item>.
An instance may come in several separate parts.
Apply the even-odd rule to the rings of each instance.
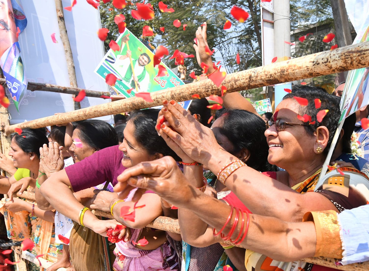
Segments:
[[[321,102],[318,108],[315,107],[315,99]],[[306,102],[308,104],[301,106],[298,101],[301,104]],[[320,88],[303,86],[287,94],[278,105],[273,121],[268,123],[268,129],[265,131],[269,145],[268,161],[286,169],[286,172],[277,172],[275,179],[247,167],[237,157],[226,152],[217,144],[211,130],[193,121],[192,117],[177,107],[174,101],[170,103],[164,101],[163,104],[162,113],[166,121],[161,124],[159,132],[168,135],[191,159],[203,164],[212,172],[218,172],[218,180],[227,185],[252,213],[277,217],[288,222],[300,222],[303,215],[309,211],[341,212],[344,209],[364,205],[368,200],[361,194],[366,193],[364,190],[369,187],[368,179],[354,169],[342,172],[345,176],[337,171],[333,172],[337,174],[327,180],[323,187],[313,192],[340,116],[337,100],[332,99],[331,95]],[[327,110],[322,119],[319,113],[321,110]],[[307,121],[304,122],[301,119],[304,119],[305,114]],[[349,178],[348,172],[351,174]],[[361,183],[363,190],[359,192],[352,186],[353,182]],[[122,189],[119,186],[116,191]],[[168,195],[166,200],[174,205],[175,198],[184,197],[191,200],[191,195],[182,195],[182,191],[176,192],[177,195]],[[222,229],[220,233],[217,231],[219,229],[214,230],[218,238],[223,236],[219,241],[228,239],[233,243],[239,243],[245,237],[247,224],[252,223],[248,221],[245,213],[237,210],[231,214],[220,213],[219,217],[208,217],[209,213],[204,212],[201,218],[204,221],[206,219],[224,221],[226,229],[224,232]],[[235,228],[241,223],[241,232],[237,232]],[[236,225],[232,227],[233,232],[229,232],[227,227],[229,225]],[[295,240],[286,247],[286,254],[303,249],[299,240]],[[317,251],[321,249],[317,248]],[[249,250],[245,254],[245,267],[247,270],[268,270],[278,267],[285,271],[309,268],[304,262],[281,263]]]

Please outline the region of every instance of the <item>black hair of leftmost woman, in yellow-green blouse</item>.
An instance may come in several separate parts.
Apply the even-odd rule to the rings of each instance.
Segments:
[[[40,158],[40,147],[49,144],[49,140],[45,135],[45,129],[24,128],[22,134],[14,135],[14,140],[22,151],[34,153]]]

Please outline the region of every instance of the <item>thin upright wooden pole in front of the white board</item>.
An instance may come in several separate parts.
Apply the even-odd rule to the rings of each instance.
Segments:
[[[60,38],[63,42],[65,58],[67,61],[70,86],[73,88],[77,88],[76,70],[73,61],[72,49],[70,48],[67,29],[65,27],[62,0],[55,0],[55,7],[56,7],[56,17],[58,18]],[[74,102],[74,109],[77,110],[80,108],[81,104],[79,102]]]

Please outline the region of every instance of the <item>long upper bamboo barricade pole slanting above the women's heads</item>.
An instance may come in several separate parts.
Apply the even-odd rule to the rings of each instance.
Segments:
[[[332,51],[301,56],[299,58],[248,69],[246,71],[231,73],[226,76],[222,85],[227,87],[227,92],[236,92],[367,66],[369,66],[369,41],[337,48]],[[14,131],[14,128],[17,127],[41,128],[71,121],[118,114],[135,109],[144,109],[160,105],[163,99],[174,99],[177,102],[186,101],[192,99],[192,95],[196,93],[199,94],[200,97],[208,97],[210,95],[220,95],[221,90],[214,85],[210,79],[207,79],[177,86],[175,88],[152,92],[151,98],[153,102],[145,102],[142,98],[131,97],[120,101],[75,110],[73,112],[14,124],[7,126],[5,132],[6,134],[10,134]]]

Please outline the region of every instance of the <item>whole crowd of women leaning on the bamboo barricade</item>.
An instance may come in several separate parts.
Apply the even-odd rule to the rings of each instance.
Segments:
[[[196,37],[211,73],[206,24]],[[164,100],[115,129],[68,123],[53,127],[50,143],[44,129],[16,133],[13,165],[0,157],[13,174],[0,179],[8,236],[31,238],[33,253],[55,262],[48,271],[297,271],[321,270],[300,261],[314,255],[369,260],[368,161],[350,155],[355,116],[332,146],[339,97],[296,86],[267,122],[239,93],[223,96],[210,124],[208,105],[194,100],[186,111]],[[318,183],[330,148],[330,171]],[[21,199],[26,189],[34,202]],[[158,216],[178,219],[181,233],[147,227]]]

